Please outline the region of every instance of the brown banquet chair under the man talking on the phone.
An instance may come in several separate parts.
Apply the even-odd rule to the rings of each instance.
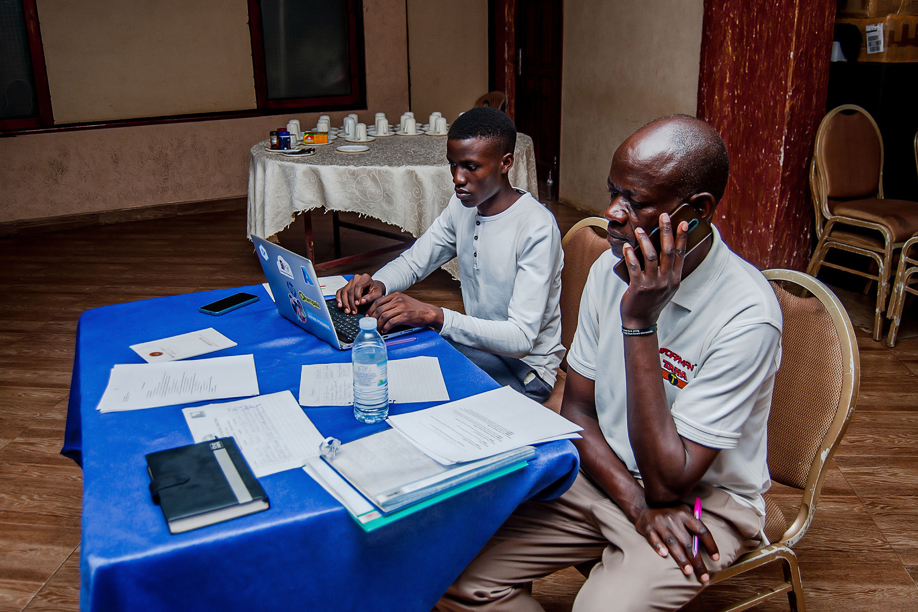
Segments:
[[[768,415],[768,470],[771,480],[785,485],[781,488],[788,493],[765,495],[765,535],[772,543],[714,573],[711,585],[779,562],[783,581],[722,608],[722,612],[745,610],[783,593],[788,595],[791,610],[806,612],[800,567],[792,547],[812,523],[825,468],[854,412],[860,357],[845,307],[828,287],[792,270],[766,270],[763,274],[778,296],[784,317],[781,366]],[[792,499],[800,496],[790,525],[777,503],[778,496],[785,501],[789,492],[795,494]],[[701,591],[704,607],[709,609],[711,602],[704,594]]]

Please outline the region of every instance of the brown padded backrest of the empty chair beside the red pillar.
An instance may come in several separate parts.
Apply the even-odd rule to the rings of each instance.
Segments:
[[[838,106],[823,117],[813,161],[827,200],[883,196],[883,137],[860,106]]]

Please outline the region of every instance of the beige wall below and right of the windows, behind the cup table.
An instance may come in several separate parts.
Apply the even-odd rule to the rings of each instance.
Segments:
[[[354,111],[364,122],[408,107],[405,21],[402,0],[364,0],[368,109]],[[348,112],[329,114],[341,121]],[[318,116],[292,117],[313,126]],[[0,139],[0,222],[246,195],[249,149],[289,117]]]

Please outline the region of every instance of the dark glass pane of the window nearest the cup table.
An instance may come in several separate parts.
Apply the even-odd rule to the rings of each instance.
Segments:
[[[347,0],[262,0],[268,99],[351,95]]]

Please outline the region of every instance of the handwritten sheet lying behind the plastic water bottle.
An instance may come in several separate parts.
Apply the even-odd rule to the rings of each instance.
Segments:
[[[389,401],[448,402],[440,360],[409,357],[388,363]],[[302,406],[347,406],[353,404],[353,369],[350,363],[304,365],[299,379]]]

